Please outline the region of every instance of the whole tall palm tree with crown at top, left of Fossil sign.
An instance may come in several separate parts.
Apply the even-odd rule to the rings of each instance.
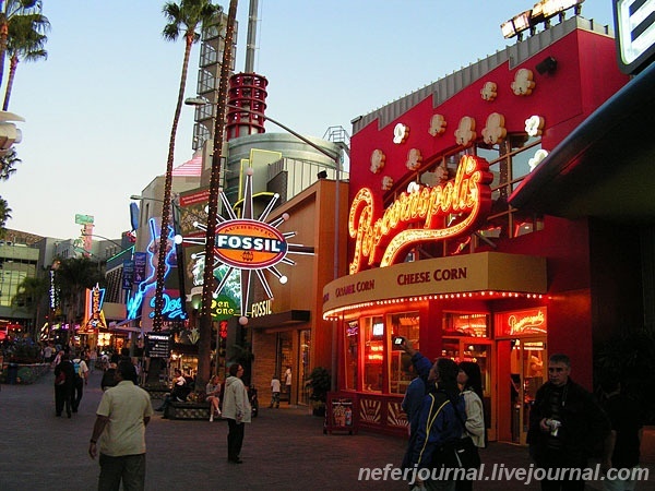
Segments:
[[[170,221],[170,197],[172,187],[172,160],[175,156],[175,136],[180,120],[184,87],[187,86],[187,72],[191,46],[198,43],[200,34],[198,28],[205,29],[216,14],[221,12],[219,5],[212,4],[211,0],[180,0],[179,3],[166,2],[162,9],[168,24],[164,26],[163,36],[166,40],[175,41],[178,37],[184,38],[184,60],[178,92],[170,141],[168,144],[168,159],[166,161],[166,180],[164,183],[164,203],[162,204],[162,231],[159,232],[159,250],[157,255],[157,284],[155,288],[155,319],[153,330],[162,330],[162,309],[164,307],[164,272],[166,271],[166,251],[168,247],[168,227]]]

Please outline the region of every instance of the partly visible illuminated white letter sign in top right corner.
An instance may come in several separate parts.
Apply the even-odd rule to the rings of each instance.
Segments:
[[[655,58],[655,2],[614,0],[619,69],[633,74]]]

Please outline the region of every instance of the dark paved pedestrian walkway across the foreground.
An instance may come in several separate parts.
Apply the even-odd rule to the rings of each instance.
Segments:
[[[0,392],[0,489],[3,491],[96,489],[98,464],[87,455],[102,372],[94,372],[80,412],[56,418],[52,373],[34,385],[2,385]],[[157,402],[154,403],[154,406]],[[147,490],[398,490],[404,482],[359,481],[361,467],[397,466],[406,442],[360,431],[323,434],[322,420],[307,408],[260,409],[246,427],[242,465],[227,463],[225,421],[179,421],[155,414],[146,430]],[[655,475],[655,431],[646,432],[645,463]],[[528,467],[525,447],[491,443],[481,451],[490,475],[493,464]],[[538,490],[519,480],[485,481],[485,491]],[[587,489],[600,489],[587,487]],[[655,489],[655,476],[638,489]]]

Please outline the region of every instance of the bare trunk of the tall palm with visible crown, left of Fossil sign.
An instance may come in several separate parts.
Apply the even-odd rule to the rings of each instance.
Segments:
[[[153,331],[160,331],[163,325],[162,310],[164,308],[164,273],[166,271],[166,251],[168,247],[168,223],[170,221],[175,137],[177,134],[178,123],[180,121],[182,103],[184,100],[184,88],[187,86],[187,72],[189,69],[189,58],[191,56],[192,43],[193,38],[186,38],[180,89],[178,92],[178,100],[175,108],[175,116],[172,117],[172,128],[170,130],[170,140],[168,143],[168,159],[166,160],[166,178],[164,181],[164,203],[162,204],[162,229],[159,232],[159,251],[157,255],[157,283],[155,287],[155,318],[153,320]]]

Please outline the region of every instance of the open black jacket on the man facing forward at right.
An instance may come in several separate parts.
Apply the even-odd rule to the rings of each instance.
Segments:
[[[527,443],[532,446],[537,463],[548,452],[550,435],[540,430],[539,422],[552,416],[550,398],[555,390],[550,382],[541,385],[529,411]],[[564,385],[562,394],[558,417],[561,420],[558,438],[561,439],[562,457],[584,460],[608,434],[609,419],[594,396],[571,379]]]

